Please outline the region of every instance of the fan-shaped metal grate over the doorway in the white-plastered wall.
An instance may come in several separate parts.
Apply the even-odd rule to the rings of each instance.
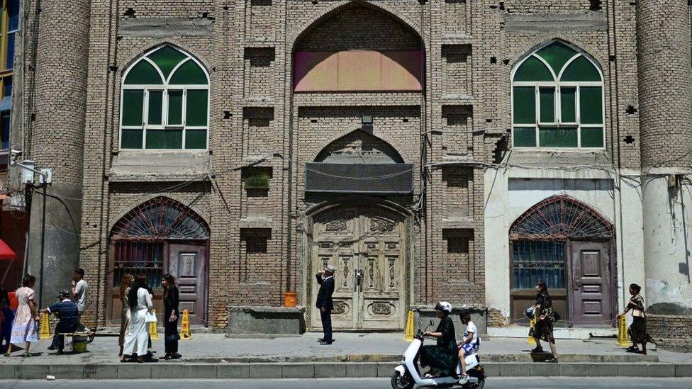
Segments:
[[[588,205],[552,196],[532,206],[510,228],[511,239],[613,237],[613,225]]]

